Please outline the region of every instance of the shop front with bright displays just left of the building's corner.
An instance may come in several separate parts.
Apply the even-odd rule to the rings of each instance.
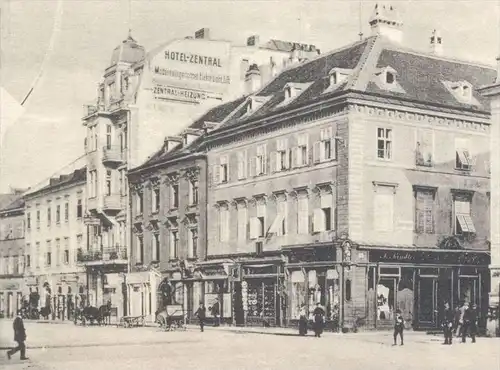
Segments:
[[[332,243],[283,247],[287,259],[289,326],[297,326],[301,307],[310,317],[317,303],[325,309],[326,328],[337,330],[341,313],[341,264]]]

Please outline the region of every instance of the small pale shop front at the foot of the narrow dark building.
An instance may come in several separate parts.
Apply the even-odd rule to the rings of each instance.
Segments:
[[[153,298],[157,296],[160,279],[161,274],[156,270],[126,274],[127,316],[144,316],[148,322],[155,321],[157,300]]]

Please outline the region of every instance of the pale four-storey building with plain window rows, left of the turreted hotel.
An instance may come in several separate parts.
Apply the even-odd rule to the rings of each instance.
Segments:
[[[39,297],[32,304],[45,308],[52,319],[71,319],[75,307],[92,300],[79,263],[87,245],[85,185],[86,169],[81,168],[24,196],[26,289]]]

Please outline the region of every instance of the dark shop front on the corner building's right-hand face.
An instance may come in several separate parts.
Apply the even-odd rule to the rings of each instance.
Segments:
[[[368,250],[368,316],[375,326],[392,326],[397,309],[407,326],[439,328],[444,304],[476,304],[480,326],[488,310],[489,253],[475,250]]]

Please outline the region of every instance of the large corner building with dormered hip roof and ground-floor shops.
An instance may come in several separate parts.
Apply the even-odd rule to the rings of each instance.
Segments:
[[[370,25],[204,137],[204,264],[230,322],[295,325],[320,302],[332,328],[390,327],[396,309],[439,328],[467,301],[484,327],[490,112],[474,89],[495,71],[443,57],[437,33],[428,53],[403,48],[392,7]]]

